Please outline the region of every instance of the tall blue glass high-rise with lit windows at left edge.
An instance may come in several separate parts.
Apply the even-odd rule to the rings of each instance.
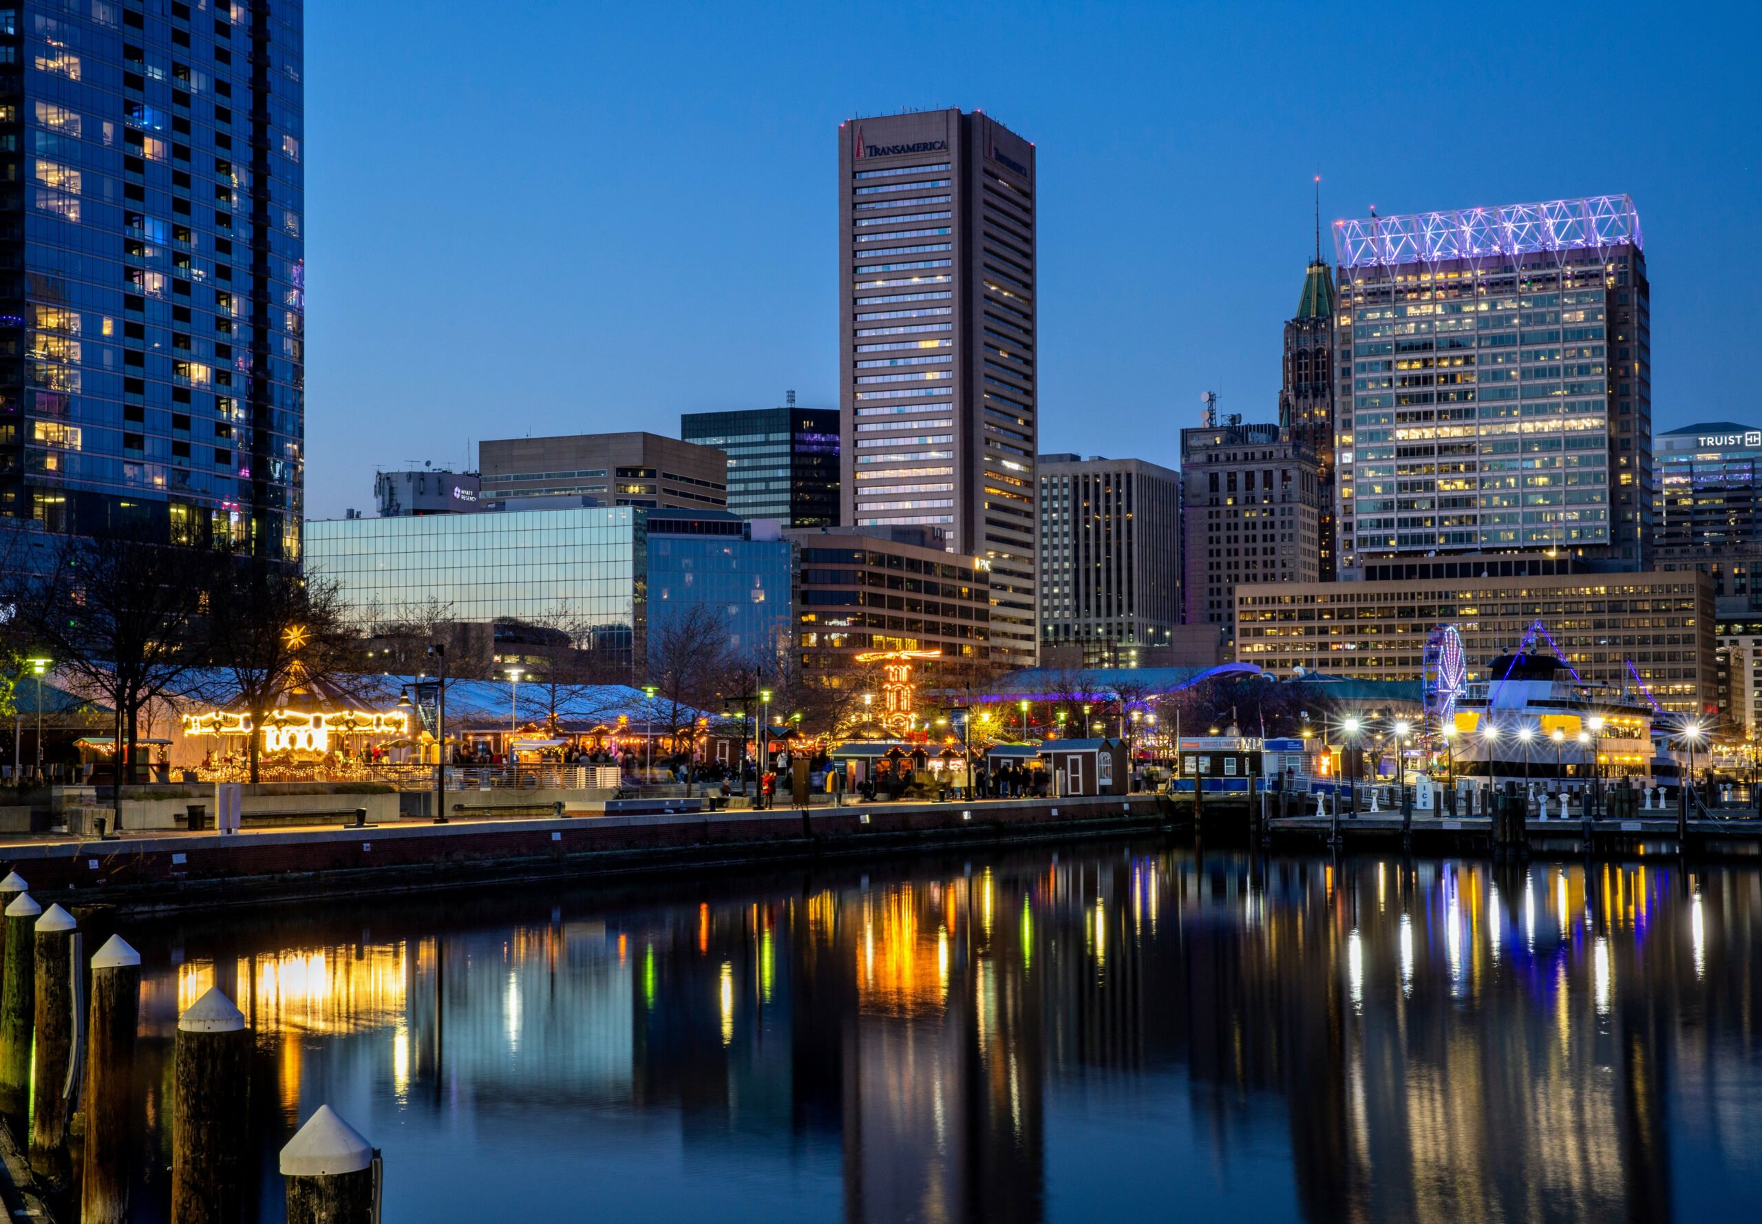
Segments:
[[[300,0],[0,23],[0,514],[300,558]]]

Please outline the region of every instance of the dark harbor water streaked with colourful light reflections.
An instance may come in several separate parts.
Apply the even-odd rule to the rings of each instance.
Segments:
[[[388,1220],[1730,1213],[1758,914],[1755,870],[1115,844],[187,919],[141,932],[143,1219],[210,984],[263,1219],[326,1101]]]

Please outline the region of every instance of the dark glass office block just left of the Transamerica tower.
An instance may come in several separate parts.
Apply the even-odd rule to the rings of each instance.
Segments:
[[[782,409],[687,412],[685,442],[728,454],[728,509],[740,518],[775,518],[784,527],[839,521],[839,412]]]

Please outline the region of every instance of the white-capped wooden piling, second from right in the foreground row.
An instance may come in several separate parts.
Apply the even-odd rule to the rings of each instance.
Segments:
[[[218,988],[178,1020],[173,1067],[171,1222],[243,1219],[250,1034]]]

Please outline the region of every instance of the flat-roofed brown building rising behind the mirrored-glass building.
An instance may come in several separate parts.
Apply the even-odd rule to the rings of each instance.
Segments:
[[[483,509],[728,509],[728,456],[659,433],[573,433],[478,444]]]

